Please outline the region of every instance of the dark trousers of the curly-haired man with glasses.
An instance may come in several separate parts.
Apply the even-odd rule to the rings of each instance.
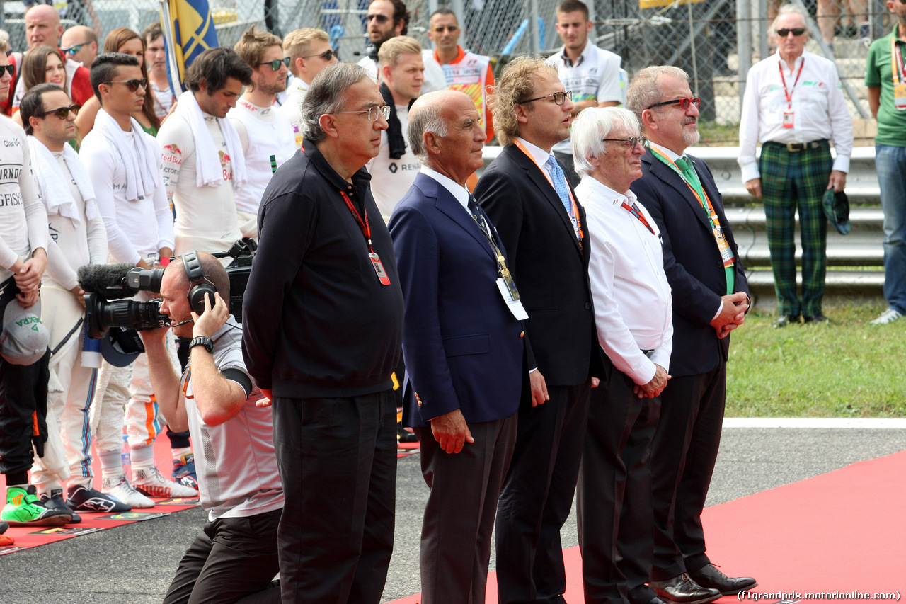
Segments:
[[[496,521],[500,604],[564,602],[560,529],[573,507],[591,379],[548,386],[551,400],[519,414],[516,450]]]

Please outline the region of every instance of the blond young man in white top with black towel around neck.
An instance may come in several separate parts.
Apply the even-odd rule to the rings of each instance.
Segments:
[[[390,107],[387,130],[381,132],[381,151],[368,162],[371,193],[384,222],[406,195],[419,173],[419,158],[406,143],[409,108],[419,98],[425,66],[415,38],[398,35],[381,44],[381,96]]]

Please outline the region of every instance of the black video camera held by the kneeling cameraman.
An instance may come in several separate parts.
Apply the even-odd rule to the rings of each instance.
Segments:
[[[239,239],[226,251],[212,254],[215,258],[233,258],[226,267],[229,276],[229,311],[242,322],[242,298],[246,293],[252,258],[257,245],[253,239]],[[169,325],[169,317],[160,312],[160,299],[147,302],[125,300],[140,291],[160,292],[163,268],[139,268],[135,265],[85,265],[79,268],[79,287],[85,294],[85,333],[100,339],[111,327],[131,327],[137,331]]]

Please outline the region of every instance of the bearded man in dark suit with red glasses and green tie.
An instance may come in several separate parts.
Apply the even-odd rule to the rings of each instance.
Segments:
[[[727,386],[729,333],[749,305],[746,273],[708,166],[683,153],[699,141],[699,99],[676,67],[637,73],[627,107],[649,142],[631,190],[663,237],[673,296],[670,384],[660,395],[651,448],[654,564],[660,599],[703,604],[757,585],[729,578],[705,554],[701,511],[718,456]]]

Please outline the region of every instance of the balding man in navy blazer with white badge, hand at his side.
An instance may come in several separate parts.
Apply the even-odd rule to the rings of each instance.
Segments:
[[[529,395],[525,310],[491,220],[466,189],[487,139],[458,91],[416,101],[407,128],[421,170],[390,217],[405,304],[403,422],[430,494],[423,604],[481,604],[497,498]]]

